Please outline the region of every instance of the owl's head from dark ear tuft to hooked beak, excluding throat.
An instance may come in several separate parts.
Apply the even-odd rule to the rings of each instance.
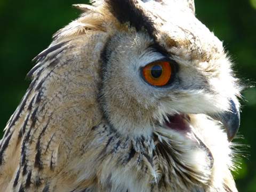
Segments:
[[[75,5],[86,13],[55,34],[53,44],[106,33],[100,98],[109,123],[124,134],[150,135],[152,125],[204,114],[223,124],[229,141],[235,137],[241,87],[222,42],[195,17],[194,1],[93,5]]]

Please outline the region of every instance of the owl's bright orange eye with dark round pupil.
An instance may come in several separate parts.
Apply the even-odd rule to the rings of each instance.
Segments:
[[[154,86],[164,86],[172,77],[172,66],[168,61],[156,61],[142,69],[142,75],[147,83]]]

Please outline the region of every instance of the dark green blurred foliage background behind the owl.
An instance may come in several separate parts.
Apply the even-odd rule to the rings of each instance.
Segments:
[[[80,12],[71,4],[80,0],[13,1],[0,0],[0,129],[22,95],[33,67],[31,60],[51,43],[59,28],[74,20]],[[214,31],[235,63],[237,76],[247,85],[256,80],[256,0],[195,0],[197,18]],[[236,142],[250,145],[244,149],[247,158],[235,174],[239,191],[256,191],[256,89],[243,92],[242,124]],[[2,133],[0,133],[2,137]],[[216,138],[218,139],[218,138]]]

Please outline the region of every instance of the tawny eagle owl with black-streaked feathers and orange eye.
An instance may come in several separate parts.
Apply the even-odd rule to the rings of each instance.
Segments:
[[[237,191],[241,86],[194,1],[91,3],[34,59],[0,190]]]

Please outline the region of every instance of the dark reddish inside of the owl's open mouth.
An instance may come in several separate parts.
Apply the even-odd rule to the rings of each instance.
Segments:
[[[168,121],[165,122],[165,125],[172,130],[188,132],[190,127],[185,118],[185,115],[168,116]]]

